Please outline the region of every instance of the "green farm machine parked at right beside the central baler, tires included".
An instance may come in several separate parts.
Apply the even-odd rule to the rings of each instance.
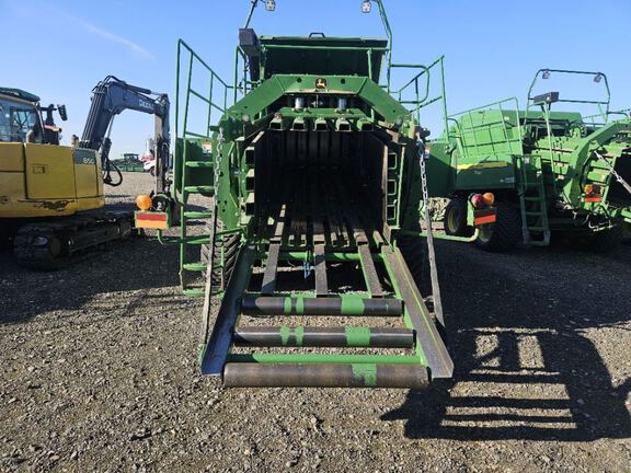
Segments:
[[[551,76],[588,80],[604,89],[604,96],[535,92],[539,80]],[[558,111],[561,104],[598,113]],[[596,250],[613,247],[631,222],[631,116],[611,112],[609,104],[603,72],[541,69],[526,109],[508,99],[449,117],[447,139],[437,148],[437,161],[452,170],[446,232],[470,234],[467,198],[491,191],[496,222],[480,228],[477,243],[483,249],[504,251],[519,242],[544,246],[551,235]]]

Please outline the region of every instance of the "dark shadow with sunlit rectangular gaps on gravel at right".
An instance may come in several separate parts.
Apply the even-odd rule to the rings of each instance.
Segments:
[[[411,391],[382,420],[404,419],[409,438],[631,437],[631,380],[615,385],[585,334],[631,319],[622,297],[631,249],[612,257],[558,249],[493,255],[441,242],[437,253],[454,380]],[[618,356],[629,362],[628,353]]]

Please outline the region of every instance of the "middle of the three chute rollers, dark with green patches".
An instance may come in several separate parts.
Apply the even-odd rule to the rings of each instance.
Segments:
[[[413,348],[409,328],[251,326],[234,331],[238,346]]]

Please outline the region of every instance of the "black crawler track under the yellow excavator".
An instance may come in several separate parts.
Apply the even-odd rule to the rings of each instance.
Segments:
[[[110,210],[26,223],[15,234],[13,253],[28,269],[60,269],[106,243],[131,236],[133,221],[131,211]]]

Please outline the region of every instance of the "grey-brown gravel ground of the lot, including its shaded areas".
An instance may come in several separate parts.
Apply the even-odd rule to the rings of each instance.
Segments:
[[[437,252],[457,372],[425,392],[219,388],[150,239],[0,255],[0,471],[631,471],[631,247]]]

